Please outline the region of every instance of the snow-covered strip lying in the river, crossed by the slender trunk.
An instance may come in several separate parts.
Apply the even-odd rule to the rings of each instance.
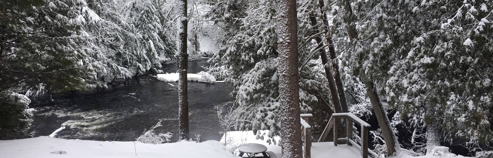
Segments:
[[[187,78],[188,78],[187,80],[191,80],[191,81],[199,81],[199,82],[207,82],[207,83],[216,82],[214,76],[203,71],[201,71],[198,74],[187,74]],[[178,74],[177,73],[157,74],[157,79],[165,82],[176,82],[178,81]]]

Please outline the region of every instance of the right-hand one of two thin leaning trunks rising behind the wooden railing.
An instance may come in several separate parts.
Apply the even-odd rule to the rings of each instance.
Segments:
[[[344,93],[344,87],[342,85],[341,75],[339,73],[339,63],[337,62],[338,60],[336,58],[336,52],[334,50],[334,45],[332,42],[332,34],[330,33],[330,30],[329,30],[329,21],[327,19],[327,13],[323,9],[325,6],[323,0],[318,0],[318,6],[320,7],[321,12],[322,12],[322,18],[321,19],[323,22],[323,28],[325,29],[325,34],[326,34],[325,37],[327,40],[327,45],[329,45],[329,56],[330,56],[330,59],[332,60],[331,64],[332,64],[332,70],[334,72],[333,78],[335,79],[335,84],[337,87],[336,89],[337,89],[337,93],[338,93],[337,99],[339,99],[339,105],[341,106],[341,112],[349,112],[348,111],[348,103],[346,102],[346,94]],[[323,59],[322,59],[322,62],[323,62]]]

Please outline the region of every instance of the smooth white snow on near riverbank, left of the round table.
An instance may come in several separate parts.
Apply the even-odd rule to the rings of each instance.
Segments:
[[[156,145],[137,142],[135,148],[134,142],[67,140],[48,136],[0,140],[1,158],[238,158],[228,150],[215,140]]]

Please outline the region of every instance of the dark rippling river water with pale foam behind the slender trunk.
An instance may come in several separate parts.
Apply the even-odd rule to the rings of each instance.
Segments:
[[[188,73],[203,71],[207,60],[190,61]],[[175,73],[176,63],[163,64],[165,73]],[[35,108],[32,129],[35,136],[49,135],[61,126],[66,129],[58,137],[88,140],[133,141],[162,120],[156,132],[178,133],[177,82],[132,79],[128,84],[108,85],[107,89],[53,95],[50,99],[33,101]],[[219,140],[219,123],[214,106],[232,105],[229,83],[188,81],[190,137],[200,134],[202,140]]]

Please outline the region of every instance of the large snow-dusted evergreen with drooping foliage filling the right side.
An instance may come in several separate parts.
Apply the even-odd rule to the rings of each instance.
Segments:
[[[435,127],[473,144],[491,141],[491,1],[355,5],[364,40],[348,55],[350,65],[374,77],[390,107],[424,122],[428,150],[443,139]]]

